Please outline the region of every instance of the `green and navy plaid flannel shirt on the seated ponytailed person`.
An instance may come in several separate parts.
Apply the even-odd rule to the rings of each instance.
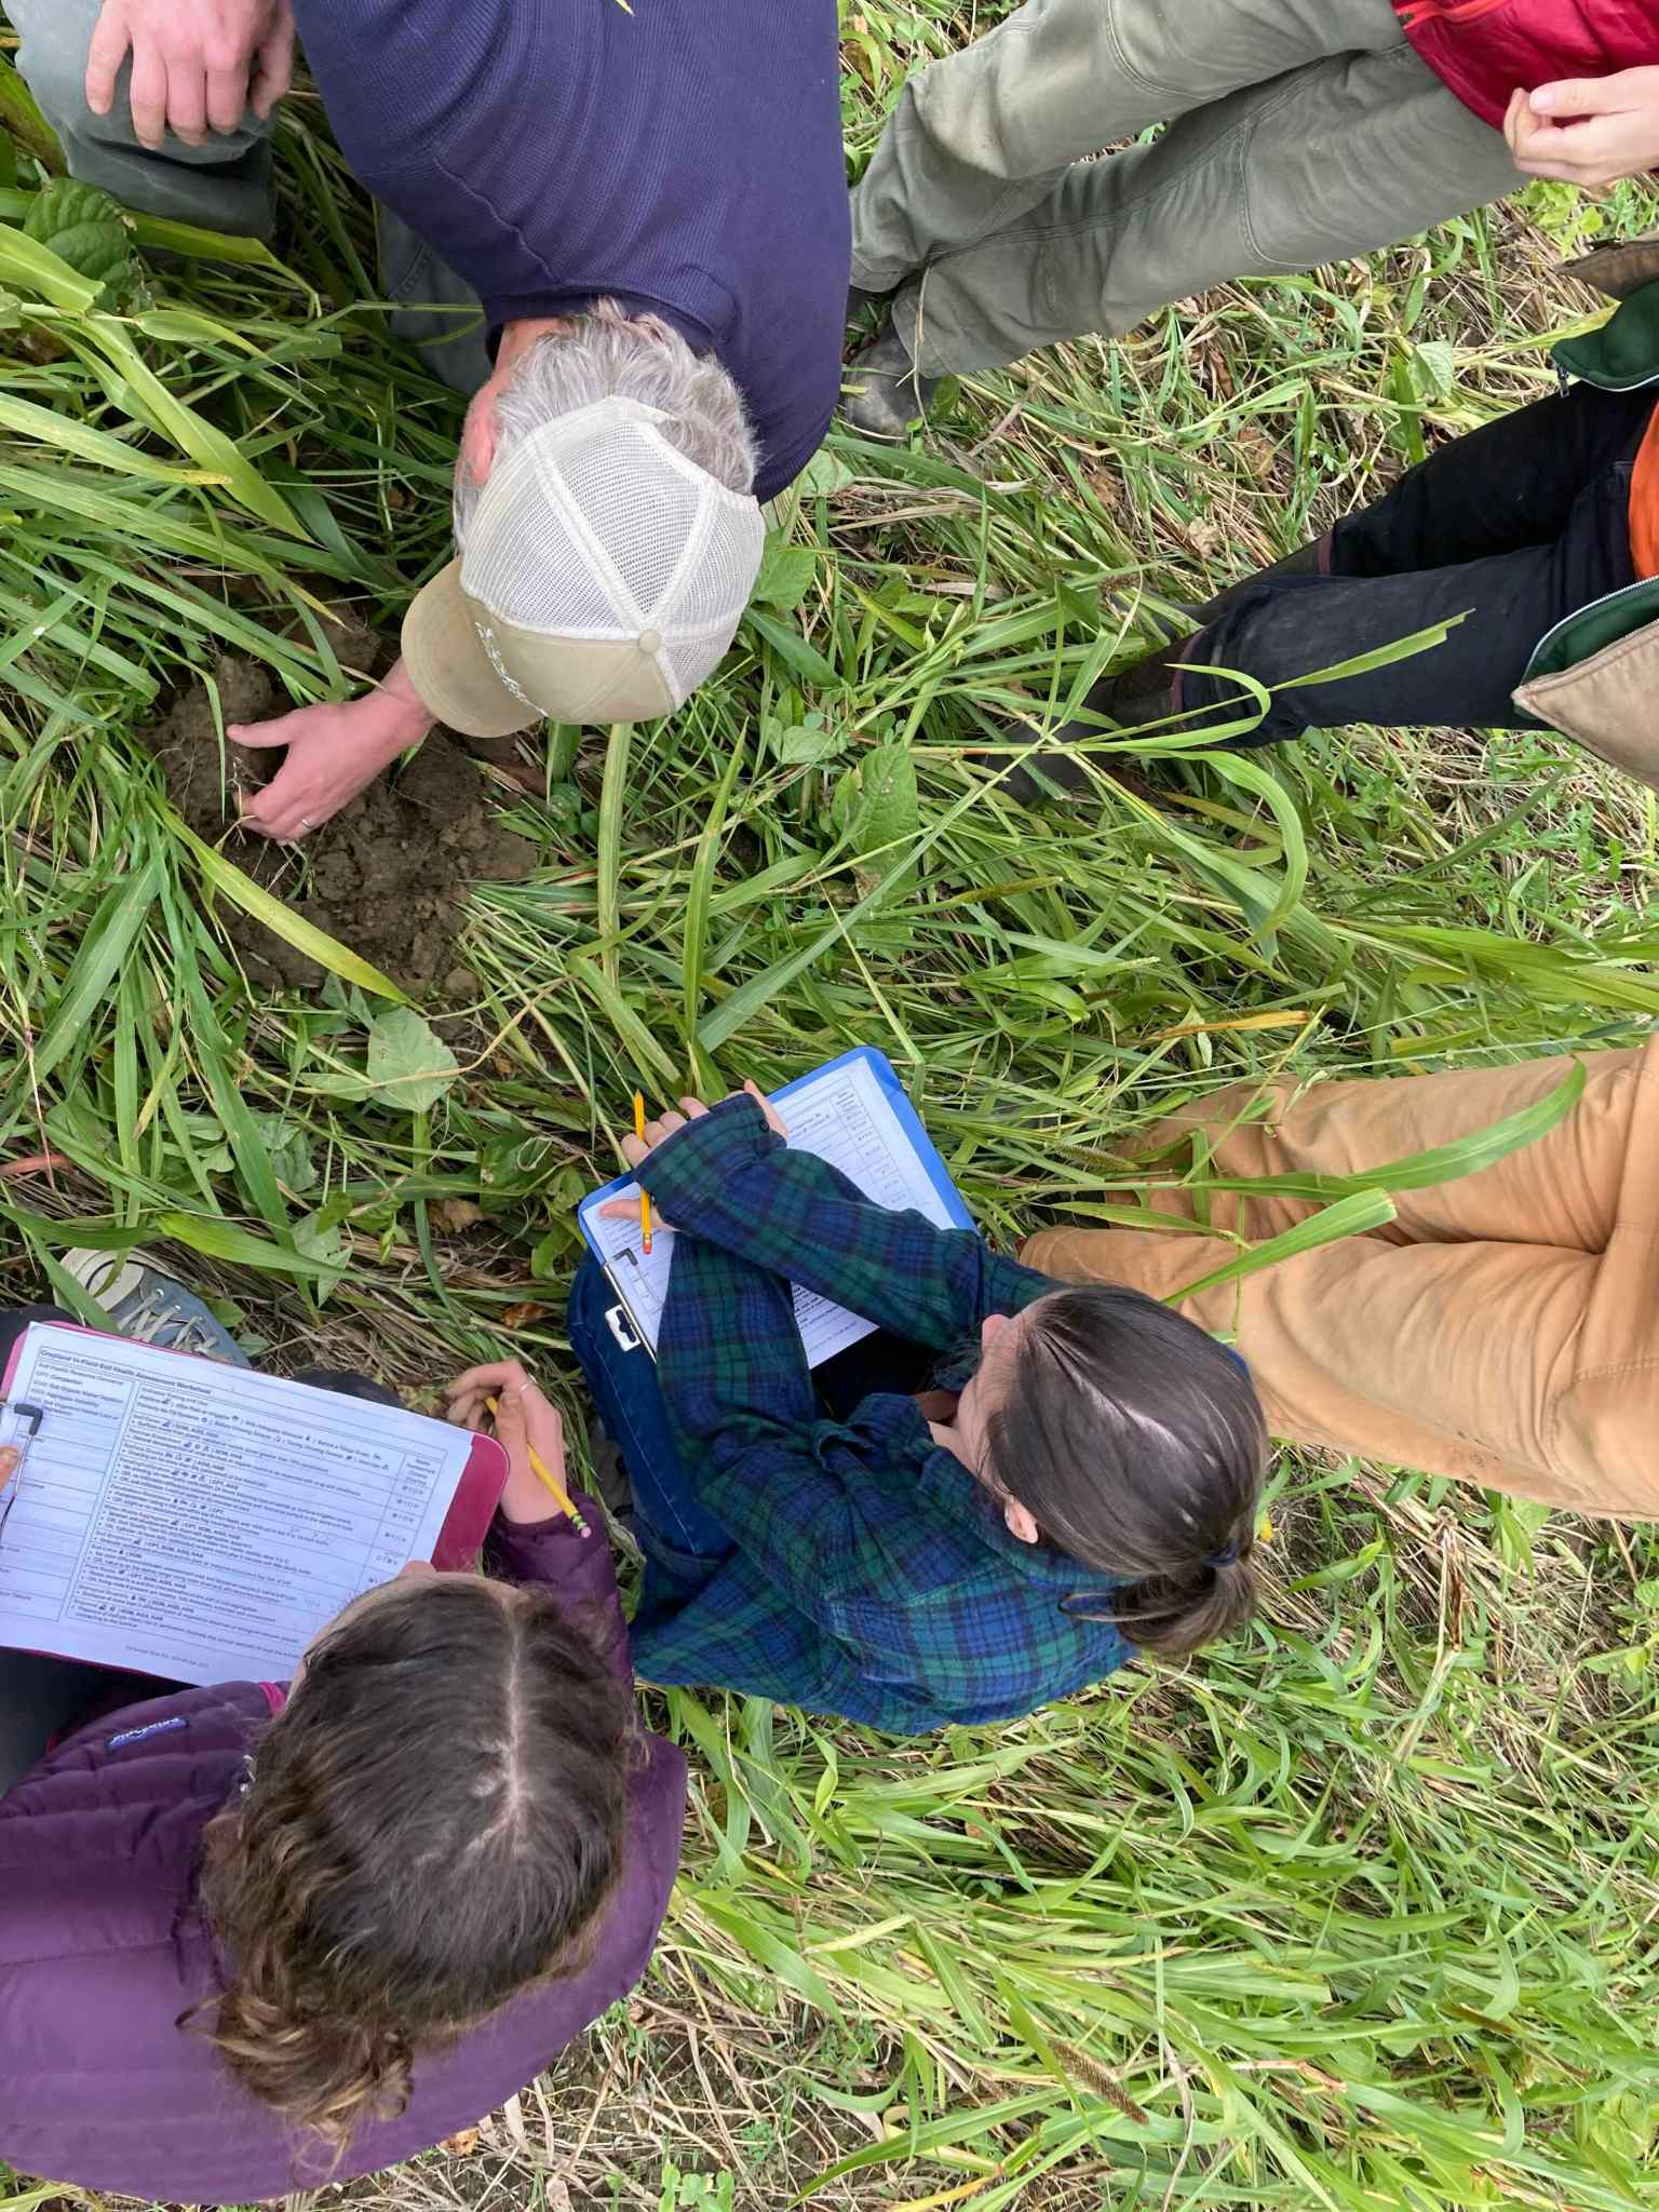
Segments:
[[[1133,1657],[1110,1577],[1020,1544],[914,1398],[827,1420],[790,1281],[940,1354],[1055,1285],[971,1230],[889,1212],[737,1097],[641,1172],[681,1232],[657,1338],[675,1442],[734,1557],[635,1632],[657,1683],[719,1683],[894,1734],[1006,1721]],[[971,1371],[971,1363],[964,1374]],[[956,1378],[960,1380],[960,1378]]]

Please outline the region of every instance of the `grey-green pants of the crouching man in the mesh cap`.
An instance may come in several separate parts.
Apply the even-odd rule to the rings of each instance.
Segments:
[[[86,46],[102,0],[4,0],[20,33],[18,69],[58,133],[71,177],[102,184],[124,208],[175,223],[268,239],[272,230],[270,124],[252,113],[241,128],[186,146],[170,131],[157,150],[142,146],[122,69],[108,115],[86,106]],[[392,330],[416,347],[434,376],[476,392],[491,372],[478,294],[425,239],[378,208],[380,285],[400,301]]]

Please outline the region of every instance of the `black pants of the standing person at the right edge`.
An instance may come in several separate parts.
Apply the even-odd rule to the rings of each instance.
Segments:
[[[1573,405],[1579,398],[1544,400],[1489,427],[1511,436],[1478,431],[1442,447],[1376,507],[1338,524],[1332,575],[1263,582],[1186,646],[1186,659],[1237,668],[1276,692],[1267,717],[1234,743],[1352,721],[1531,728],[1511,695],[1533,646],[1564,615],[1635,582],[1630,469],[1652,394],[1595,392],[1588,398],[1606,405]],[[1584,473],[1573,478],[1564,456]],[[1409,659],[1281,690],[1455,615],[1464,619],[1442,644]],[[1192,717],[1183,728],[1248,710],[1225,677],[1183,675],[1179,686]]]

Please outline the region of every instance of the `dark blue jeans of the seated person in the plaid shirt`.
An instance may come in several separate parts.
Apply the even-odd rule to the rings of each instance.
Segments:
[[[646,1555],[646,1590],[639,1601],[644,1621],[657,1610],[675,1610],[701,1590],[732,1557],[734,1544],[699,1502],[679,1460],[655,1358],[639,1343],[624,1349],[606,1318],[613,1312],[622,1336],[633,1340],[604,1267],[588,1254],[571,1285],[571,1352],[633,1484],[635,1535]]]

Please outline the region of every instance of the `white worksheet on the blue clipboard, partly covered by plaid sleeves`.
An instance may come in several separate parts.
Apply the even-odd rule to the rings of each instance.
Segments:
[[[818,1159],[827,1159],[876,1206],[891,1212],[909,1208],[925,1214],[936,1230],[956,1225],[909,1133],[894,1113],[889,1093],[867,1060],[852,1060],[807,1077],[790,1091],[779,1110],[790,1126],[790,1150],[816,1152]],[[650,1256],[646,1256],[639,1243],[639,1190],[635,1183],[628,1186],[628,1194],[635,1199],[630,1219],[606,1221],[593,1208],[584,1212],[584,1225],[599,1245],[611,1281],[624,1294],[628,1316],[655,1352],[664,1298],[668,1296],[668,1270],[675,1263],[675,1237],[672,1230],[657,1230],[650,1239]],[[836,1352],[845,1352],[847,1345],[856,1345],[860,1336],[876,1329],[874,1321],[863,1321],[845,1305],[832,1305],[830,1298],[801,1290],[799,1283],[794,1287],[794,1318],[810,1367],[821,1367]]]

